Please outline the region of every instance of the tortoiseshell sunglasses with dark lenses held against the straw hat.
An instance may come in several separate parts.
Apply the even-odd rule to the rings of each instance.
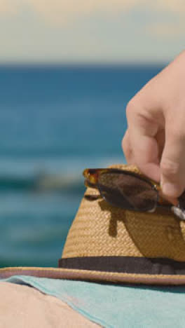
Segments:
[[[98,189],[100,197],[111,205],[137,212],[154,212],[157,207],[163,207],[185,220],[185,192],[177,199],[177,205],[172,205],[161,196],[158,184],[135,172],[114,168],[86,169],[83,176],[85,186]]]

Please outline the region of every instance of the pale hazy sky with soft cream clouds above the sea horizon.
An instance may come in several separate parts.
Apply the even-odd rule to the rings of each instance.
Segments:
[[[0,0],[0,62],[169,62],[184,0]]]

